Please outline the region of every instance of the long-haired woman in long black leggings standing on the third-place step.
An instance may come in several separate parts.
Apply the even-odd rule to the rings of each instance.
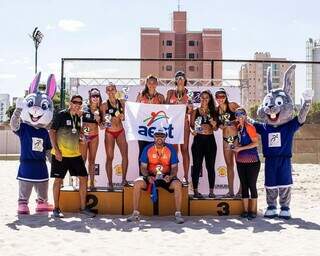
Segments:
[[[206,168],[209,180],[209,198],[215,198],[215,161],[217,144],[213,132],[217,130],[217,113],[214,100],[210,91],[203,91],[200,94],[200,107],[191,114],[191,133],[194,135],[192,150],[192,184],[193,197],[203,198],[198,191],[200,171],[203,158],[206,161]]]

